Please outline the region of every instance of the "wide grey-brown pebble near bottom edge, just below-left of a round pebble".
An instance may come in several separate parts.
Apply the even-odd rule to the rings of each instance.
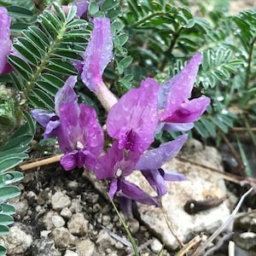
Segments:
[[[66,228],[55,228],[50,234],[49,238],[55,241],[55,247],[66,248],[68,246],[74,246],[77,243],[77,239]]]

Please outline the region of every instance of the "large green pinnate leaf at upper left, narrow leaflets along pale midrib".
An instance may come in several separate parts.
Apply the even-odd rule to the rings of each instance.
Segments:
[[[87,22],[73,19],[76,7],[66,16],[55,5],[55,12],[45,10],[39,15],[39,26],[29,26],[15,38],[18,55],[9,55],[16,71],[12,74],[16,89],[22,91],[23,103],[33,108],[54,108],[52,96],[64,84],[61,78],[77,73],[71,61],[81,60],[79,53],[89,35]]]

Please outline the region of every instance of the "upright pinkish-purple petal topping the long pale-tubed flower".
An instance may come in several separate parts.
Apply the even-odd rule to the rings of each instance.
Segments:
[[[113,56],[113,38],[108,18],[94,18],[93,23],[90,42],[82,54],[84,67],[81,78],[90,90],[97,91],[98,85],[103,84],[102,73]]]

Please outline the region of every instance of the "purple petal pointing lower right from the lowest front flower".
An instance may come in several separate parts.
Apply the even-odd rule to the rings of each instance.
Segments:
[[[159,201],[157,201],[156,197],[148,195],[142,189],[137,187],[137,185],[130,183],[126,180],[122,180],[118,195],[125,196],[129,199],[145,205],[160,207],[160,203]]]

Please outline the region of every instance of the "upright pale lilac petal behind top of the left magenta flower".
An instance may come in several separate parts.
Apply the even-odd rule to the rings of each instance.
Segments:
[[[55,95],[55,113],[60,115],[61,104],[67,102],[77,102],[78,96],[73,90],[74,85],[77,82],[76,76],[70,76],[65,84],[57,91]]]

